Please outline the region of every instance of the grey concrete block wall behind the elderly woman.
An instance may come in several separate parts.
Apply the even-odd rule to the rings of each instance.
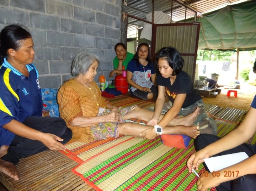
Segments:
[[[36,52],[34,64],[42,88],[58,88],[71,78],[71,62],[80,52],[100,57],[97,76],[113,69],[120,42],[123,0],[0,0],[0,29],[28,27]]]

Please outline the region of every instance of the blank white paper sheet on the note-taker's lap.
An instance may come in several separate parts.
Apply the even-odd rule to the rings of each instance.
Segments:
[[[245,152],[238,152],[229,155],[205,158],[204,162],[206,163],[210,172],[213,172],[239,163],[246,158],[248,158],[248,155]]]

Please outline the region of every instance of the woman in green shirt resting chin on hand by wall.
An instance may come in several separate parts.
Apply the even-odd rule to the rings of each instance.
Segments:
[[[113,77],[114,74],[122,74],[123,70],[126,70],[128,62],[133,59],[133,54],[127,52],[126,45],[123,43],[117,43],[114,47],[117,56],[113,60],[114,69],[110,72],[109,77]]]

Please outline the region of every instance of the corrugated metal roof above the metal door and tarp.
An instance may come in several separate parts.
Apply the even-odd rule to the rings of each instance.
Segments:
[[[171,0],[154,0],[154,11],[162,11],[166,15],[172,18],[174,22],[182,21],[187,18],[191,18],[195,16],[195,13],[189,8],[198,11],[199,13],[207,13],[214,10],[221,9],[227,5],[236,4],[248,0],[177,0],[180,4],[185,4],[188,6],[187,11],[185,11],[185,7],[178,4],[176,1]],[[230,4],[230,3],[231,4]],[[171,5],[172,4],[172,5]],[[152,13],[153,4],[152,0],[128,0],[127,1],[127,14],[132,15],[141,19],[149,20],[152,22],[152,18],[147,19],[146,15]],[[172,6],[172,10],[171,10]],[[185,13],[186,12],[186,13]],[[161,18],[155,18],[161,19]],[[154,22],[156,23],[156,22]],[[136,26],[138,28],[143,27],[145,22],[139,21],[134,18],[128,17],[128,38],[134,37],[136,34]],[[131,36],[133,34],[133,36]]]

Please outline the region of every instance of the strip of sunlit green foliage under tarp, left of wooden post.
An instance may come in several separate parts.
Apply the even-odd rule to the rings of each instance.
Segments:
[[[197,60],[211,60],[211,61],[230,61],[231,55],[234,52],[223,52],[219,50],[198,50],[197,51]]]

